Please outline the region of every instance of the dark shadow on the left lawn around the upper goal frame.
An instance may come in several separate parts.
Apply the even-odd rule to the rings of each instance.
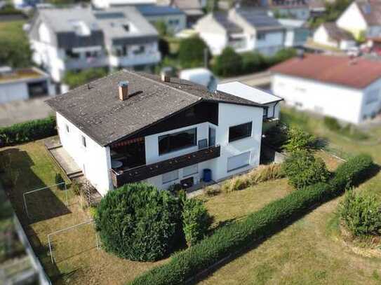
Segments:
[[[46,184],[34,173],[32,169],[34,162],[27,151],[8,148],[0,151],[0,159],[8,160],[5,167],[3,165],[4,172],[0,178],[4,181],[6,193],[23,224],[45,221],[71,213],[58,197],[58,195],[65,197],[64,192],[57,187],[45,188]],[[38,188],[45,189],[25,195],[28,217],[25,210],[24,193]]]

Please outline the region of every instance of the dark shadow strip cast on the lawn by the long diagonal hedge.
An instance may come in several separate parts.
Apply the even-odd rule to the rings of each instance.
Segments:
[[[373,178],[374,176],[376,176],[380,172],[380,170],[381,170],[380,165],[373,164],[373,167],[371,167],[366,172],[361,174],[360,181],[358,181],[358,183],[354,184],[354,187],[359,186],[361,183],[366,182],[369,179]],[[335,197],[339,197],[344,192],[345,192],[344,190],[338,192]],[[192,279],[187,280],[187,282],[185,282],[185,283],[186,284],[197,284],[200,281],[208,278],[210,276],[210,274],[212,274],[213,272],[219,270],[221,267],[224,267],[225,265],[227,265],[232,260],[243,256],[244,254],[248,253],[248,251],[252,251],[253,249],[256,249],[258,246],[260,246],[263,242],[265,242],[267,239],[269,239],[270,237],[272,237],[276,233],[281,232],[281,230],[287,228],[289,225],[292,225],[296,221],[300,220],[300,218],[303,218],[307,214],[314,211],[314,209],[321,206],[321,204],[324,204],[325,202],[333,200],[335,197],[324,197],[323,200],[321,200],[321,202],[318,202],[318,203],[312,205],[312,207],[309,207],[309,208],[305,209],[304,211],[300,211],[298,214],[291,216],[286,221],[281,221],[278,225],[272,227],[269,230],[269,232],[267,232],[266,235],[264,235],[262,237],[258,237],[256,239],[253,239],[252,242],[248,242],[247,246],[244,246],[239,251],[235,251],[235,252],[230,253],[229,256],[226,256],[225,258],[218,261],[214,265],[206,268],[206,270],[203,270],[202,272],[195,274],[195,276],[192,277]]]

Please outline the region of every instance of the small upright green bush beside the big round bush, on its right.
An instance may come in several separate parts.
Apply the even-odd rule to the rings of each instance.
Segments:
[[[203,202],[197,199],[185,200],[182,209],[182,230],[188,246],[193,246],[206,235],[211,218]]]

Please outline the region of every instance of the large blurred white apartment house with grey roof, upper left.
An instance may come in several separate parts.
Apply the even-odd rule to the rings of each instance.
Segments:
[[[57,82],[67,71],[143,70],[161,60],[156,29],[131,6],[38,9],[28,33],[33,61]]]

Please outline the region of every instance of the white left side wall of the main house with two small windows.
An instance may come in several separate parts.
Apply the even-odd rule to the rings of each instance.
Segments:
[[[66,125],[69,126],[69,132],[66,130]],[[109,147],[97,144],[60,113],[57,113],[57,127],[63,148],[82,169],[86,179],[101,195],[105,195],[113,188],[109,172],[111,169]],[[81,136],[86,138],[86,147],[82,145]]]

